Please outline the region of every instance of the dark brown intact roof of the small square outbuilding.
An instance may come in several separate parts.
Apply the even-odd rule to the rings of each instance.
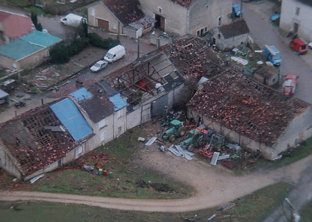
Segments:
[[[244,19],[239,19],[230,24],[220,26],[219,31],[225,39],[250,32]]]

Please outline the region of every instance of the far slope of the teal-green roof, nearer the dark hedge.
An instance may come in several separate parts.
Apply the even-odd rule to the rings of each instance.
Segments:
[[[42,33],[40,31],[33,31],[28,35],[24,35],[20,37],[21,40],[25,40],[26,42],[31,42],[33,44],[37,44],[44,47],[52,46],[55,43],[62,41],[59,37],[55,37],[53,35],[49,35],[46,33]]]

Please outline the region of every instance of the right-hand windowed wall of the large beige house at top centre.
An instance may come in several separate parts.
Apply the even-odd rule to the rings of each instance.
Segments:
[[[222,24],[231,22],[228,14],[232,12],[232,0],[196,0],[189,8],[188,33],[196,35],[197,31],[207,27],[207,31],[218,27],[218,17]]]

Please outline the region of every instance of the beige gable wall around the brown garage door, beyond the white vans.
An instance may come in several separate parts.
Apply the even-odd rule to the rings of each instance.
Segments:
[[[92,10],[94,10],[94,15],[92,15]],[[109,31],[112,33],[123,33],[123,25],[119,24],[119,20],[114,17],[112,12],[108,10],[103,4],[98,1],[98,3],[90,6],[88,8],[88,24],[89,26],[98,27],[98,20],[103,19],[109,22]],[[114,24],[116,25],[114,28]],[[120,26],[120,27],[118,27]]]

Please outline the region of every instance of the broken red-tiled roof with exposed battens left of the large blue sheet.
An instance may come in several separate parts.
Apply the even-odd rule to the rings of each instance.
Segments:
[[[61,160],[79,146],[71,135],[73,131],[51,109],[53,104],[35,108],[0,125],[0,144],[24,176]]]

